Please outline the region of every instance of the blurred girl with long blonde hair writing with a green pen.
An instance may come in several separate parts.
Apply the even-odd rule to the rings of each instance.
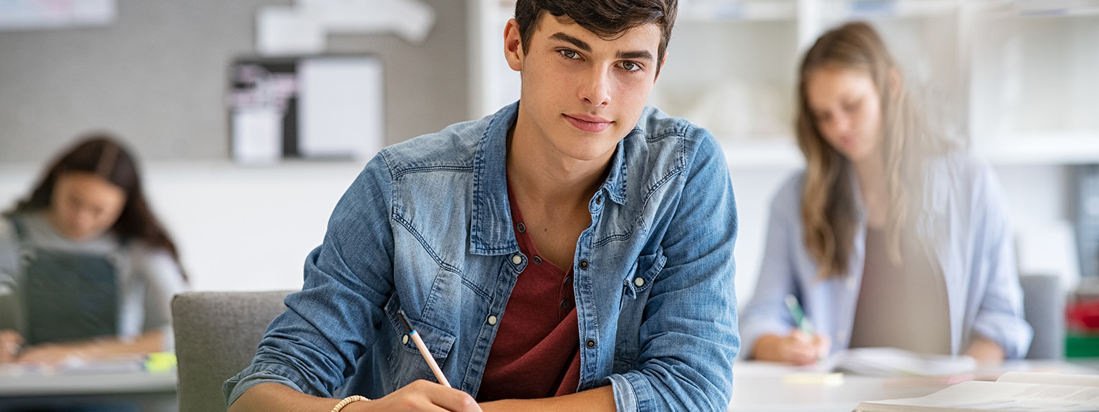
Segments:
[[[743,353],[795,364],[876,346],[1023,357],[1032,332],[991,168],[921,119],[865,23],[822,35],[798,87],[807,165],[771,203]],[[795,329],[788,294],[815,334]]]

